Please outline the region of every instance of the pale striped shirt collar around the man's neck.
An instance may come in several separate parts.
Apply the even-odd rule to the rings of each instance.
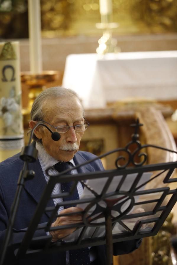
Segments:
[[[36,149],[38,150],[38,159],[41,165],[41,168],[43,172],[49,168],[54,166],[59,161],[53,158],[51,155],[49,155],[45,148],[43,147],[42,143],[36,142]],[[75,166],[74,160],[70,160],[69,162],[72,163],[73,166]]]

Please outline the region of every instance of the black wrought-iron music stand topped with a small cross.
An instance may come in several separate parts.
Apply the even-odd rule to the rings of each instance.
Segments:
[[[52,168],[48,169],[50,180],[43,192],[40,202],[38,203],[22,244],[17,250],[17,258],[43,251],[66,251],[106,244],[107,264],[110,265],[113,264],[113,243],[154,236],[157,234],[177,201],[177,189],[170,189],[169,185],[163,185],[177,182],[177,178],[170,178],[175,168],[177,168],[177,162],[143,165],[147,159],[147,155],[145,153],[140,153],[140,151],[143,148],[153,147],[173,153],[177,152],[155,145],[141,145],[137,140],[139,137],[137,130],[141,124],[139,124],[139,121],[137,120],[137,123],[133,126],[135,127],[135,133],[132,135],[132,141],[128,143],[125,148],[118,148],[99,156],[99,158],[102,158],[114,152],[126,152],[128,155],[127,162],[124,163],[124,165],[119,165],[118,163],[120,160],[125,160],[123,156],[119,156],[116,160],[117,169],[85,174],[80,173],[77,175],[64,175],[69,172],[70,169],[63,171],[58,175],[53,175],[51,173],[49,174],[49,169],[51,170]],[[129,150],[132,144],[137,145],[137,148],[133,153]],[[142,159],[138,163],[135,162],[137,154],[140,160]],[[86,161],[82,165],[91,163],[96,159],[98,158]],[[134,167],[127,167],[130,163]],[[79,168],[82,165],[77,165],[75,168]],[[148,175],[149,173],[152,174],[152,177],[144,180],[144,174]],[[129,181],[130,186],[127,188],[124,183],[127,180],[130,180],[130,176],[134,176],[134,178]],[[153,184],[159,177],[163,179],[160,187],[143,189],[147,183]],[[87,182],[85,182],[87,180],[90,181],[89,183],[92,183],[92,180],[95,181],[100,179],[101,181],[103,178],[105,178],[105,183],[102,187],[101,193],[97,193],[94,190],[94,185],[90,187]],[[115,185],[114,191],[110,192],[109,187],[113,181],[115,182],[115,180],[117,181],[117,185]],[[51,196],[54,185],[66,181],[73,181],[70,192]],[[92,196],[72,202],[61,202],[58,203],[56,207],[47,207],[48,200],[51,198],[64,198],[71,195],[79,181],[82,182],[85,189],[89,191]],[[57,213],[59,207],[73,204],[86,205],[86,208],[82,212],[83,222],[51,227],[51,223],[56,217],[63,216]],[[51,212],[51,216],[48,223],[39,226],[40,218],[45,211]],[[65,214],[65,216],[72,214],[75,213]],[[52,243],[51,236],[45,235],[40,238],[33,237],[36,229],[54,231],[71,227],[77,228],[73,233],[72,241],[68,241],[67,238],[64,238],[63,240]],[[43,249],[32,249],[31,246],[34,242],[45,242]]]

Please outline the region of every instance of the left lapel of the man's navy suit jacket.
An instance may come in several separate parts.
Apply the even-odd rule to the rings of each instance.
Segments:
[[[43,194],[44,188],[47,185],[39,160],[37,160],[35,163],[30,163],[29,170],[33,170],[35,172],[35,177],[32,180],[27,180],[25,182],[25,190],[38,203]],[[47,206],[54,207],[52,199],[49,200]],[[47,216],[50,216],[50,212],[46,212],[46,214]]]

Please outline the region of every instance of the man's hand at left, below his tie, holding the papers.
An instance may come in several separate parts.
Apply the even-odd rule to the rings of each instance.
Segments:
[[[73,213],[73,212],[79,212],[79,211],[83,211],[83,209],[77,208],[77,207],[70,207],[70,208],[67,208],[61,211],[60,214]],[[56,221],[51,224],[51,227],[64,226],[64,225],[69,225],[73,223],[82,223],[82,214],[73,214],[69,216],[58,217]],[[52,235],[52,241],[54,242],[60,238],[68,236],[69,234],[73,233],[75,230],[76,230],[76,227],[68,228],[68,229],[60,229],[56,231],[50,231],[50,234]]]

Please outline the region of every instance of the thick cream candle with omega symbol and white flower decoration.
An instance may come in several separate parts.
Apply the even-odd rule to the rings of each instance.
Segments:
[[[0,43],[0,161],[24,145],[19,42]]]

